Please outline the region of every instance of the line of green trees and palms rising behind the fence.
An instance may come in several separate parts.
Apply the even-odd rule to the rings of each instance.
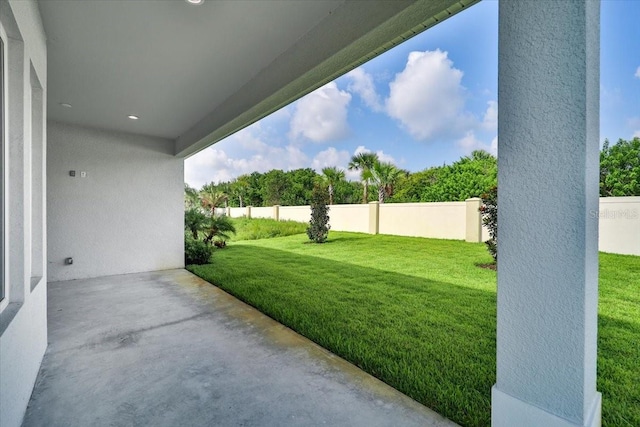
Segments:
[[[348,181],[346,169],[358,171],[360,181]],[[450,165],[411,173],[375,153],[354,155],[345,168],[327,167],[317,173],[311,168],[265,173],[253,172],[221,183],[209,183],[201,190],[185,186],[187,198],[200,193],[218,198],[218,206],[299,206],[312,200],[315,184],[329,193],[330,204],[448,202],[480,197],[497,185],[495,156],[477,150]],[[605,140],[600,152],[600,195],[640,195],[640,138]]]

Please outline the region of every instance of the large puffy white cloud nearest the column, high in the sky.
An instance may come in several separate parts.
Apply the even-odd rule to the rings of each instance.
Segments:
[[[387,113],[416,139],[460,135],[474,119],[464,111],[463,72],[447,52],[411,52],[405,69],[389,83]]]

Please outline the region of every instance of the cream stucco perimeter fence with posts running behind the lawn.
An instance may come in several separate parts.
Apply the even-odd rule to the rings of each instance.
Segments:
[[[329,223],[335,231],[429,237],[483,242],[489,238],[478,208],[482,200],[443,203],[371,202],[332,205]],[[308,222],[310,206],[270,206],[220,209],[232,218],[271,218]],[[640,197],[601,197],[599,248],[603,252],[640,255]]]

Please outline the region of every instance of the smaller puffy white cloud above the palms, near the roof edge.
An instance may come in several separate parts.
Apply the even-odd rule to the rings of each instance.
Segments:
[[[349,133],[347,107],[351,94],[335,82],[316,89],[296,104],[291,119],[292,139],[302,136],[315,142],[344,138]]]

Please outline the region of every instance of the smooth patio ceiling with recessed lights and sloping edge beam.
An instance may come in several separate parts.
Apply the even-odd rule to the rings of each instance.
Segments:
[[[48,116],[188,156],[477,1],[40,0]]]

